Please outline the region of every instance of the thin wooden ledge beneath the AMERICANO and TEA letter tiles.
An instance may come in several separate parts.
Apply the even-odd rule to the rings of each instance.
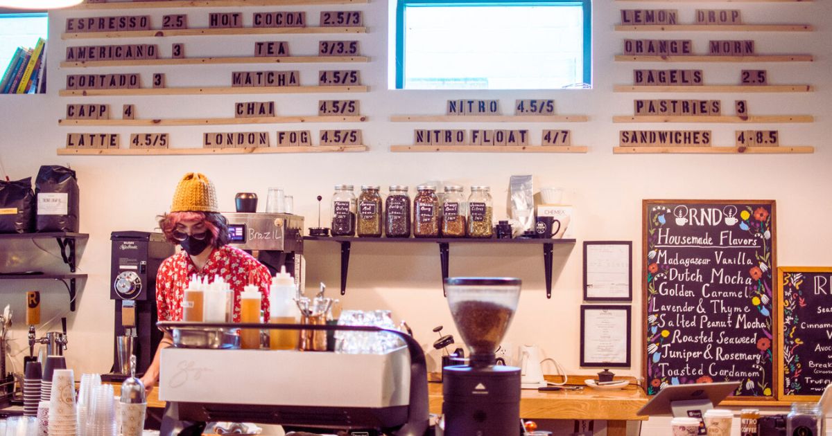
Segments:
[[[302,64],[366,62],[367,56],[247,56],[186,57],[181,59],[136,59],[129,61],[64,61],[62,68],[94,66],[218,65],[218,64]]]

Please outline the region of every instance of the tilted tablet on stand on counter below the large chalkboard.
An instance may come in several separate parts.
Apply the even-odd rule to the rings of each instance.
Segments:
[[[696,418],[701,422],[706,410],[713,409],[714,404],[720,404],[739,387],[739,381],[667,386],[636,414]],[[699,434],[705,434],[704,429],[700,424]]]

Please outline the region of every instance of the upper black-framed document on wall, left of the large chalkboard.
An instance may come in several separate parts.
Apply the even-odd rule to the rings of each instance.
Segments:
[[[583,242],[583,299],[632,301],[632,242]]]

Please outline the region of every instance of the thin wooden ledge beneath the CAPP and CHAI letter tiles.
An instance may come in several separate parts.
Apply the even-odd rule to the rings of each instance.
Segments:
[[[263,116],[256,118],[174,118],[168,120],[57,120],[58,125],[247,125],[247,124],[287,124],[287,123],[358,123],[364,122],[364,115],[324,115],[324,116]]]

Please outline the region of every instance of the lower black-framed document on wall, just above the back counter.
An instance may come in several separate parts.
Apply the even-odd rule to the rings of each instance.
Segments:
[[[630,306],[581,306],[581,366],[630,366]]]

